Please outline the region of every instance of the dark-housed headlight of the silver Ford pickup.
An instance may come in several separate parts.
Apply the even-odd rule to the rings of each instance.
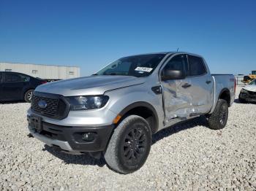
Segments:
[[[67,101],[72,111],[99,109],[107,104],[109,97],[107,95],[89,95],[67,97]]]

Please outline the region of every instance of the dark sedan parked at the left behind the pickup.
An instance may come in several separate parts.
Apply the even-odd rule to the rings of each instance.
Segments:
[[[0,71],[0,101],[31,102],[34,89],[46,81],[18,72]]]

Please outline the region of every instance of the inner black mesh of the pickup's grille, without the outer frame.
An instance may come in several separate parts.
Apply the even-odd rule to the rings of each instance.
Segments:
[[[45,109],[39,107],[39,101],[45,101],[47,106]],[[34,95],[32,98],[32,109],[35,112],[39,112],[42,115],[46,116],[55,116],[58,113],[58,105],[59,99],[51,99],[51,98],[42,98],[39,96]]]

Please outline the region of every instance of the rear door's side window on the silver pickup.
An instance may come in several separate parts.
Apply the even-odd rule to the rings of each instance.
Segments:
[[[203,59],[189,55],[189,75],[199,76],[206,74],[206,66],[203,63]]]

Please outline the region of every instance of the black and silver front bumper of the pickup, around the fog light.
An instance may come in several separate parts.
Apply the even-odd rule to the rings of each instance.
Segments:
[[[59,147],[70,154],[104,151],[114,128],[114,125],[99,127],[61,126],[42,121],[41,130],[37,130],[31,128],[31,116],[28,115],[27,119],[32,136],[50,147]],[[94,139],[92,141],[83,140],[84,133],[93,133]]]

